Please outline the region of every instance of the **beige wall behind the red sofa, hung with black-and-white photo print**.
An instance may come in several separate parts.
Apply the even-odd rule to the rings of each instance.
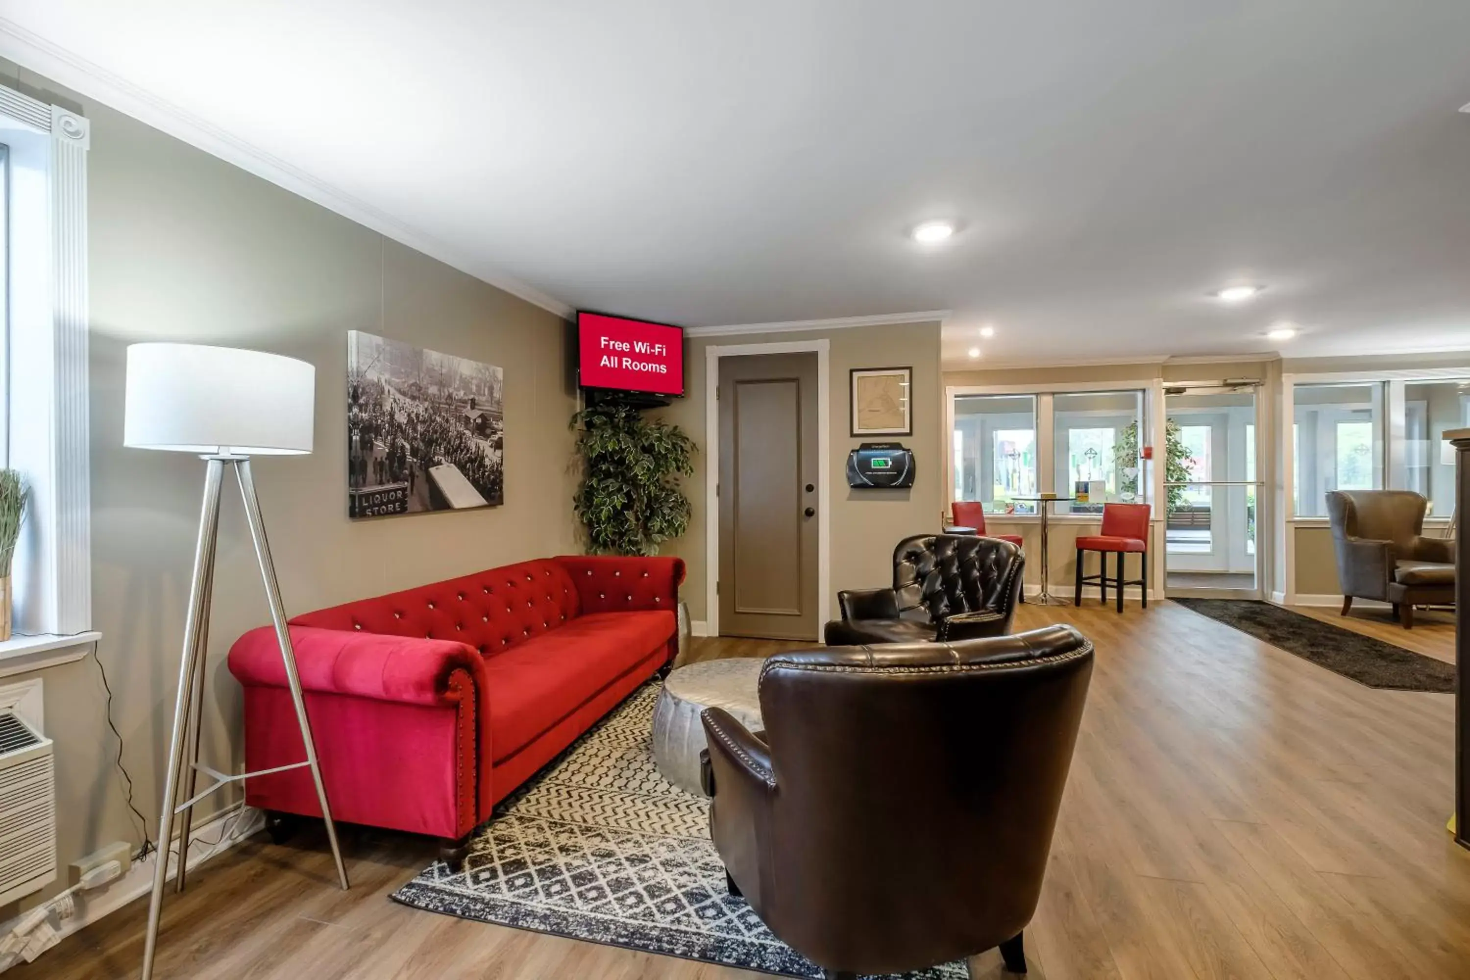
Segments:
[[[244,170],[13,66],[6,84],[93,122],[93,608],[135,802],[157,818],[203,464],[122,448],[123,351],[173,339],[316,364],[316,453],[256,463],[287,611],[576,548],[563,322]],[[506,372],[506,504],[353,523],[345,516],[347,331],[366,329]],[[240,760],[229,644],[268,620],[238,491],[225,488],[206,680],[207,763]],[[41,671],[56,741],[60,861],[140,842],[113,768],[91,658]],[[222,793],[220,804],[229,802]],[[63,873],[65,880],[65,873]],[[54,887],[51,890],[56,890]]]

